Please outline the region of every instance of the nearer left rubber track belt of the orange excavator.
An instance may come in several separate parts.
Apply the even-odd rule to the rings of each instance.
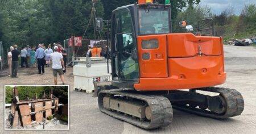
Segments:
[[[150,120],[139,119],[130,116],[129,114],[108,110],[104,107],[104,97],[122,97],[127,99],[136,99],[145,102],[150,107]],[[144,129],[154,129],[159,127],[166,127],[172,122],[172,106],[170,101],[161,95],[153,95],[147,93],[140,93],[138,91],[131,91],[126,89],[113,89],[100,91],[98,95],[98,106],[101,112],[110,115],[119,120],[137,125]]]

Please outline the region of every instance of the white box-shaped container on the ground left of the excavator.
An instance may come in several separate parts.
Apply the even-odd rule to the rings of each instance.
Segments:
[[[94,90],[93,82],[112,81],[111,63],[109,63],[108,73],[108,64],[104,57],[80,57],[76,58],[74,63],[75,90],[85,90],[86,93],[92,93]]]

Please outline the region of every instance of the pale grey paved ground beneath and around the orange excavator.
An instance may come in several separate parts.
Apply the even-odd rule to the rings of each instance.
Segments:
[[[237,89],[245,99],[245,110],[241,116],[225,120],[204,118],[197,115],[174,110],[173,123],[166,128],[145,131],[129,123],[113,119],[102,114],[97,107],[97,98],[92,94],[79,93],[70,90],[70,130],[49,131],[52,133],[256,133],[256,49],[254,47],[225,46],[225,69],[228,79],[221,87]],[[49,69],[48,69],[49,70]],[[36,70],[34,70],[36,72]],[[72,72],[71,69],[68,72]],[[28,73],[28,72],[23,72]],[[31,74],[36,76],[36,74]],[[43,81],[35,78],[36,84],[51,85],[51,73],[46,74]],[[22,76],[21,76],[22,77]],[[72,73],[65,76],[71,89],[73,87]],[[27,81],[13,80],[24,84]],[[10,78],[0,78],[0,94],[3,94],[3,83],[11,83]],[[3,96],[0,96],[3,104]],[[3,106],[3,105],[2,105]],[[0,110],[0,119],[3,120],[3,109]],[[3,132],[3,122],[0,122]],[[9,131],[10,132],[10,131]],[[22,131],[34,133],[35,131]],[[44,133],[44,131],[37,131]],[[10,132],[15,133],[15,132]]]

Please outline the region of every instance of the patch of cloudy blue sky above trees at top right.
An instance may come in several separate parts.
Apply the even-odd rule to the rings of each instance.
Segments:
[[[243,7],[249,3],[255,3],[256,0],[201,0],[200,5],[207,5],[212,9],[213,14],[220,14],[225,9],[234,8],[234,14],[239,15]]]

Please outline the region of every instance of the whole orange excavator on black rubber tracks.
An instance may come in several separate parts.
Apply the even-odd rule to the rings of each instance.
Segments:
[[[226,80],[222,37],[172,33],[171,22],[168,0],[112,12],[113,88],[98,93],[100,111],[144,129],[170,125],[172,108],[216,119],[240,115],[242,95],[215,87]]]

